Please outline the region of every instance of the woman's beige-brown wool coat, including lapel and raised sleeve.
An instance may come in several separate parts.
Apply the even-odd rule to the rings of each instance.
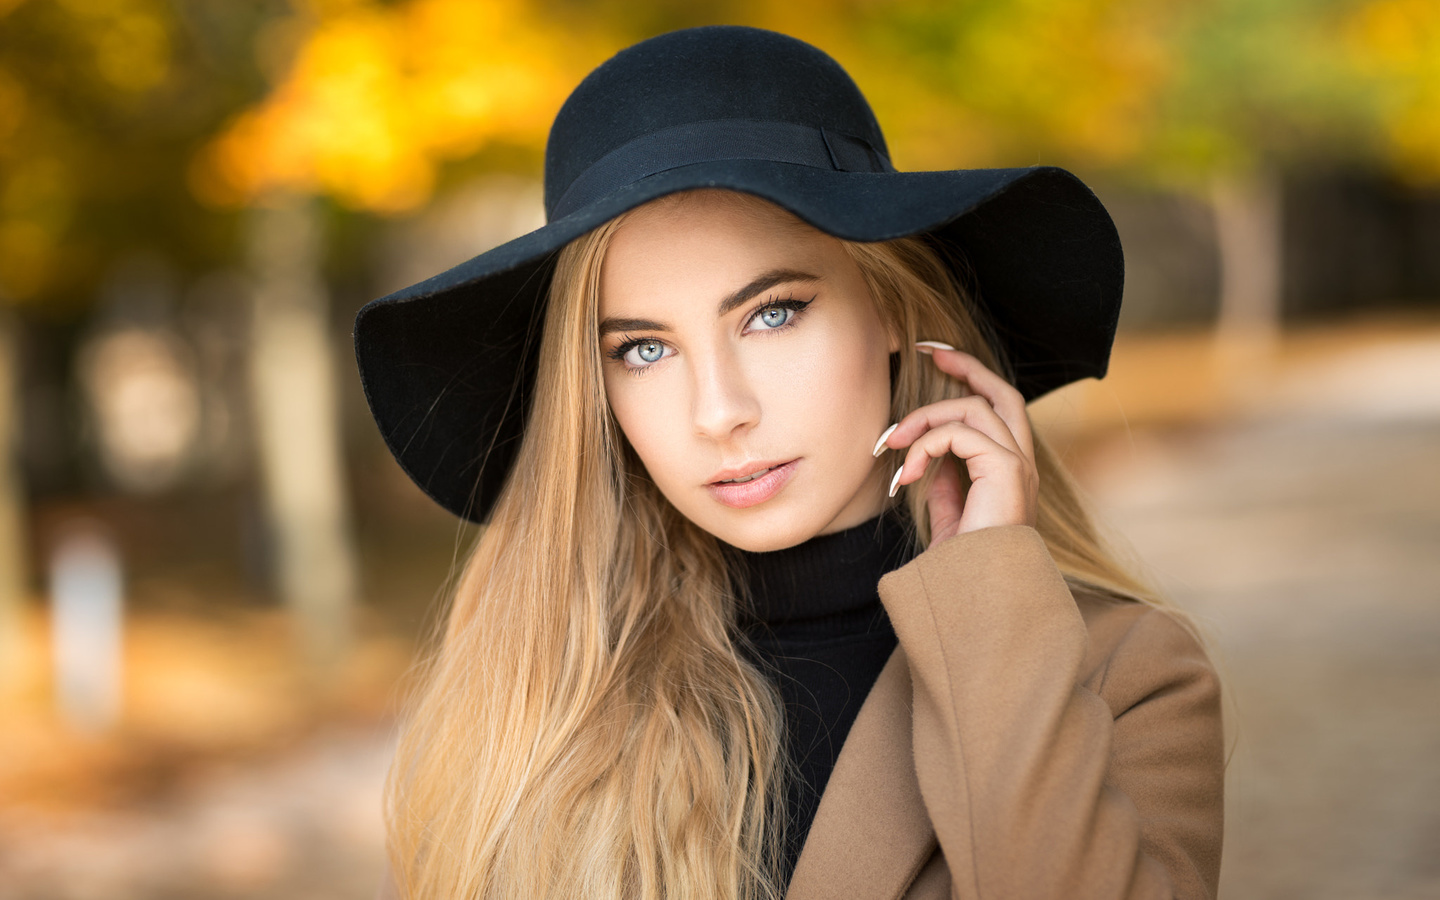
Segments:
[[[900,645],[788,900],[1215,896],[1220,683],[1184,628],[1071,595],[1021,526],[930,547],[880,599]]]

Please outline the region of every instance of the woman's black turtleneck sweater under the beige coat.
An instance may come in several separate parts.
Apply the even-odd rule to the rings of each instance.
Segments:
[[[786,880],[860,704],[896,648],[876,586],[912,553],[907,523],[893,513],[786,550],[732,553],[739,625],[785,700],[798,773],[786,798]]]

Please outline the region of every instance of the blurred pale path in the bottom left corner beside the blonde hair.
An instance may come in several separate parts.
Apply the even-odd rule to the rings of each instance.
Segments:
[[[261,766],[196,772],[144,808],[58,821],[0,809],[0,899],[373,897],[389,759],[383,736],[337,733]]]

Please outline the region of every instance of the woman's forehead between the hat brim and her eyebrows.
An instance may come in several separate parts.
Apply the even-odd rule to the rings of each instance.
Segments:
[[[778,206],[730,192],[694,192],[634,210],[600,271],[600,308],[714,300],[772,269],[825,278],[848,258],[840,242]]]

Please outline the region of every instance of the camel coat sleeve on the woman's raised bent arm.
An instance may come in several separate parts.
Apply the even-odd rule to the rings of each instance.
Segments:
[[[955,897],[1215,896],[1220,683],[1184,628],[1139,611],[1083,685],[1086,624],[1024,526],[942,541],[880,596]]]

